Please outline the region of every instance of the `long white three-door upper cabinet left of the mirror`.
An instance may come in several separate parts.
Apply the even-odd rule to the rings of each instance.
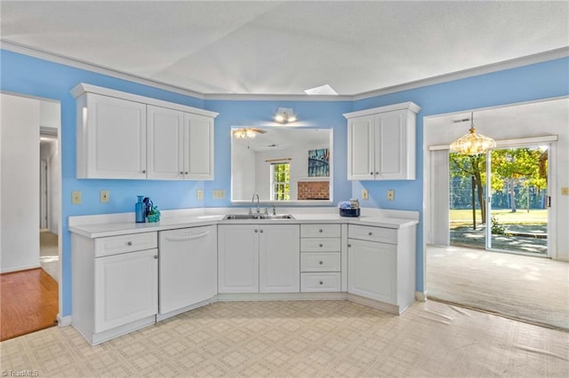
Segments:
[[[80,83],[77,177],[213,179],[213,119],[191,106]]]

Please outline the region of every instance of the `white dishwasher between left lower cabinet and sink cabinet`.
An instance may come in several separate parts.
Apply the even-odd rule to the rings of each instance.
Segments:
[[[158,232],[158,319],[217,295],[217,226]]]

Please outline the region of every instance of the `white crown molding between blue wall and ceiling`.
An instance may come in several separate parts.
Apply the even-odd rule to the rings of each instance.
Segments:
[[[35,47],[27,46],[25,44],[14,43],[1,38],[0,38],[0,48],[8,51],[19,52],[21,54],[28,55],[38,59],[49,60],[54,63],[60,63],[70,67],[81,68],[101,75],[108,75],[116,77],[117,79],[123,79],[133,83],[148,85],[164,91],[172,91],[174,93],[179,93],[193,98],[200,98],[204,100],[232,100],[232,101],[236,100],[237,101],[357,101],[360,99],[379,97],[390,93],[409,91],[429,85],[465,79],[472,76],[491,74],[493,72],[498,72],[509,68],[529,66],[532,64],[541,63],[548,60],[569,57],[569,46],[565,46],[559,49],[539,52],[533,55],[527,55],[516,59],[509,59],[485,66],[464,69],[461,71],[455,71],[445,75],[432,76],[414,82],[397,84],[390,87],[381,88],[375,91],[365,91],[354,95],[314,96],[314,95],[304,95],[304,94],[287,95],[287,94],[249,94],[249,93],[202,93],[197,91],[191,91],[176,85],[147,79],[139,75],[129,74],[123,71],[116,70],[114,68],[96,65],[84,60],[70,58],[51,51],[37,49]]]

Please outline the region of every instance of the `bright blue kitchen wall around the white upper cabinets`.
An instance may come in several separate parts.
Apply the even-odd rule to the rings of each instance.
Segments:
[[[497,106],[539,98],[569,94],[569,59],[557,59],[532,66],[509,69],[401,91],[376,98],[354,102],[338,101],[220,101],[191,98],[145,85],[127,82],[83,69],[36,59],[12,51],[0,51],[0,90],[60,100],[61,103],[61,217],[63,309],[62,316],[71,314],[70,243],[68,217],[76,215],[132,212],[136,195],[144,194],[155,201],[160,209],[229,206],[229,199],[213,200],[213,189],[230,189],[230,138],[229,129],[236,125],[260,126],[270,122],[278,106],[293,107],[302,122],[310,126],[332,128],[334,132],[333,174],[334,199],[341,201],[359,198],[361,188],[370,193],[363,205],[382,209],[409,209],[421,211],[422,216],[422,117],[449,113],[483,106]],[[91,83],[101,87],[127,91],[141,96],[158,98],[188,106],[219,112],[215,121],[215,180],[206,182],[172,182],[143,180],[78,180],[76,176],[75,98],[69,91],[77,83]],[[349,182],[346,180],[346,120],[342,113],[413,101],[421,106],[417,122],[417,180],[391,182]],[[99,191],[110,191],[111,201],[101,204]],[[196,200],[197,189],[204,189],[204,200]],[[387,201],[387,189],[396,190],[396,201]],[[72,205],[71,192],[82,191],[83,203]],[[423,290],[422,227],[419,228],[417,256],[417,290]]]

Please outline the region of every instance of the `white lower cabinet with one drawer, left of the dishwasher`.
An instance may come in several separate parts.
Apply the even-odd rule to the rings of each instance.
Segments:
[[[72,324],[92,345],[156,322],[157,232],[71,234]]]

